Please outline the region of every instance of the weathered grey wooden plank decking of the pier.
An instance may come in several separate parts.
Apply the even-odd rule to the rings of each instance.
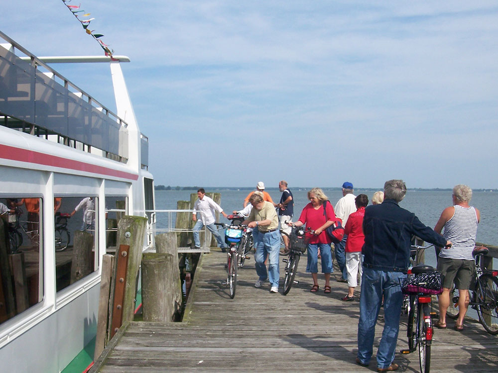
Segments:
[[[223,284],[225,258],[218,250],[202,258],[186,322],[131,323],[117,344],[107,349],[100,372],[376,372],[383,324],[377,324],[370,367],[356,365],[359,302],[339,299],[347,284],[336,282],[332,275],[332,292],[324,294],[319,276],[319,292],[310,293],[312,281],[304,273],[303,256],[299,284],[287,296],[272,294],[268,283],[254,288],[251,257],[239,271],[237,293],[230,299]],[[283,268],[281,263],[281,274]],[[478,322],[466,322],[464,332],[435,329],[434,334],[431,372],[498,371],[498,337],[486,333]],[[406,317],[397,350],[404,348]],[[416,352],[396,353],[395,362],[400,365],[398,372],[419,372]]]

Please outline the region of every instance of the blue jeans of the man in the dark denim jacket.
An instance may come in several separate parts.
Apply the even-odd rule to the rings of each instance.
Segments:
[[[382,295],[384,296],[384,329],[377,350],[377,368],[387,368],[394,360],[399,332],[403,293],[399,281],[406,275],[363,268],[358,322],[358,359],[368,364],[373,354],[373,337]]]

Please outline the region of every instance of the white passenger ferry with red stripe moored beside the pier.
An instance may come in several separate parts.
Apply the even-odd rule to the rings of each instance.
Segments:
[[[73,59],[109,62],[116,114],[47,65],[71,60],[37,58],[0,32],[2,372],[60,372],[92,341],[111,228],[154,209],[148,139],[120,67],[129,60]],[[93,236],[82,274],[71,268],[77,230]]]

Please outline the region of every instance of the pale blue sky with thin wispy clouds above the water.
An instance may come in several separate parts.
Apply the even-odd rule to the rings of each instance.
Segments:
[[[70,4],[131,59],[156,185],[498,187],[496,1]],[[103,55],[61,0],[1,9],[36,56]],[[107,64],[53,68],[116,110]]]

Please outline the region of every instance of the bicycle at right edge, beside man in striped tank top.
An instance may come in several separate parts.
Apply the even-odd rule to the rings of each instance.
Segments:
[[[479,265],[480,257],[488,254],[489,249],[484,246],[476,246],[472,255],[476,261],[476,272],[469,288],[469,306],[477,311],[479,322],[484,329],[492,335],[498,334],[498,271],[483,271]],[[472,295],[471,292],[472,291]],[[458,317],[459,291],[455,284],[450,290],[450,306],[446,314],[451,319]]]

